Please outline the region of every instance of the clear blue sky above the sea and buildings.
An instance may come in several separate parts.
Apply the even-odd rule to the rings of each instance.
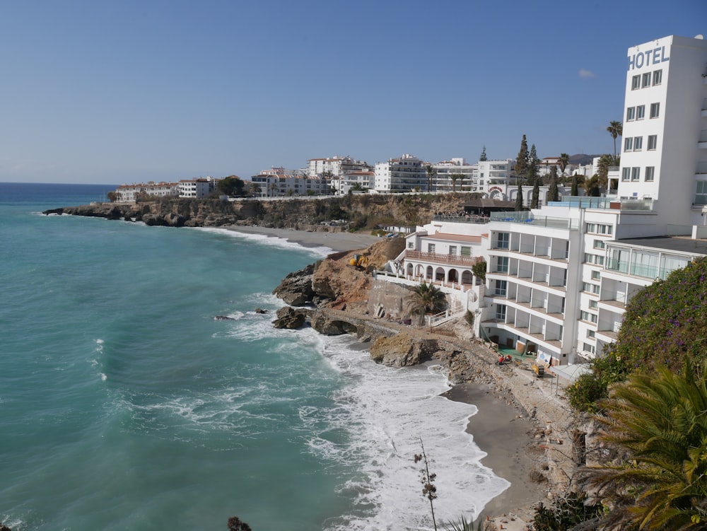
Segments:
[[[626,49],[698,33],[706,0],[0,0],[0,181],[612,153]]]

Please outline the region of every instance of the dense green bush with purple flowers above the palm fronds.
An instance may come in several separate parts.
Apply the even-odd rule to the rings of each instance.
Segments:
[[[677,371],[685,356],[701,366],[707,358],[707,257],[677,269],[636,293],[626,305],[617,342],[592,362],[592,374],[567,388],[573,407],[595,411],[607,387],[634,371],[667,366]]]

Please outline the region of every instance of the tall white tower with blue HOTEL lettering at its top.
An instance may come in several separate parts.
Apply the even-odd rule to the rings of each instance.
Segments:
[[[663,37],[629,48],[618,196],[655,199],[655,224],[704,224],[707,42]]]

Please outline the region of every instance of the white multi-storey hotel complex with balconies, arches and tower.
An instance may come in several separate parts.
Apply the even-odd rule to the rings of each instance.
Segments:
[[[664,37],[629,48],[627,65],[615,197],[435,219],[378,278],[435,282],[502,349],[553,365],[601,354],[639,289],[707,255],[707,41]]]

